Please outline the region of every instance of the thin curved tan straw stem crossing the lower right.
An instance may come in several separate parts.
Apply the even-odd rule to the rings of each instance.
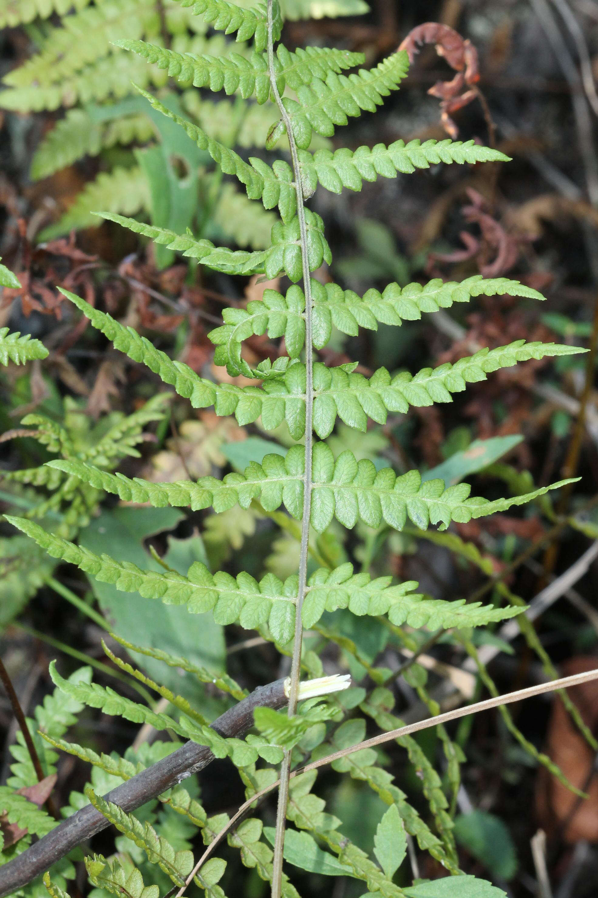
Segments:
[[[585,671],[583,674],[574,674],[573,676],[562,677],[560,680],[552,680],[550,682],[542,682],[536,686],[528,686],[526,689],[519,689],[514,692],[508,692],[506,695],[498,695],[496,698],[485,699],[484,701],[477,701],[473,705],[466,705],[464,708],[457,708],[453,711],[447,711],[445,714],[438,714],[435,718],[426,718],[426,720],[418,720],[417,723],[408,724],[407,726],[401,726],[400,729],[391,730],[390,733],[381,733],[380,735],[374,735],[371,739],[366,739],[365,742],[360,742],[356,745],[352,745],[350,748],[344,748],[339,752],[335,752],[334,754],[329,754],[325,758],[321,758],[320,761],[314,761],[311,764],[306,764],[305,767],[299,768],[299,770],[294,770],[291,773],[290,779],[294,777],[300,776],[302,773],[306,773],[308,770],[315,770],[318,767],[325,767],[326,765],[332,763],[333,761],[338,761],[339,758],[344,758],[347,754],[353,754],[354,752],[360,752],[364,748],[372,748],[374,745],[381,745],[384,742],[391,742],[393,739],[400,739],[401,736],[411,735],[412,733],[418,733],[419,730],[428,729],[430,726],[439,726],[440,724],[450,723],[451,720],[457,720],[459,718],[468,717],[470,714],[479,714],[480,711],[488,711],[492,708],[498,708],[501,705],[511,705],[515,701],[523,701],[523,699],[532,699],[536,695],[542,695],[545,692],[551,692],[558,689],[568,689],[570,686],[578,686],[582,682],[590,682],[591,680],[598,680],[598,668],[593,671]],[[210,842],[207,846],[207,849],[204,851],[201,858],[199,858],[198,863],[193,867],[191,873],[187,877],[185,885],[181,886],[179,891],[176,894],[176,898],[181,898],[182,894],[184,894],[185,889],[192,881],[193,877],[196,876],[198,870],[206,863],[207,858],[214,852],[217,845],[222,841],[224,836],[229,830],[231,830],[235,823],[238,823],[242,818],[243,814],[245,814],[251,806],[255,804],[255,802],[259,801],[260,798],[268,795],[268,792],[271,792],[272,789],[277,788],[280,785],[280,780],[272,783],[271,786],[267,788],[261,789],[259,792],[246,801],[237,811],[236,814],[233,815],[231,820],[226,823],[224,828],[218,833],[215,837],[214,841]]]

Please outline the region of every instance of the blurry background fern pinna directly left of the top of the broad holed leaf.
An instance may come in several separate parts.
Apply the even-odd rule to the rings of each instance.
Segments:
[[[35,151],[31,178],[47,178],[84,156],[97,156],[118,144],[144,144],[152,136],[152,122],[143,114],[97,121],[87,109],[68,110]]]

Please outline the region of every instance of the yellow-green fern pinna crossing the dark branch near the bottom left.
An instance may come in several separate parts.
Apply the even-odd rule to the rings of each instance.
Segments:
[[[119,832],[134,841],[137,848],[143,849],[150,863],[157,864],[174,885],[185,884],[185,877],[193,867],[192,851],[175,851],[150,823],[141,823],[133,814],[126,814],[118,805],[105,801],[94,793],[91,786],[85,789],[85,795],[96,811],[100,811]]]

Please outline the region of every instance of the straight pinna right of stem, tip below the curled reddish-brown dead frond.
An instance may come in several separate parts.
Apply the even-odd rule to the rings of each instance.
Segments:
[[[418,168],[429,168],[438,163],[488,163],[509,162],[509,156],[488,146],[479,146],[473,140],[410,140],[405,144],[396,140],[390,146],[376,144],[373,148],[360,146],[355,151],[342,147],[334,153],[318,150],[299,151],[303,192],[311,196],[318,184],[331,193],[340,193],[344,187],[361,190],[362,179],[374,181],[395,178],[397,173],[411,173]]]

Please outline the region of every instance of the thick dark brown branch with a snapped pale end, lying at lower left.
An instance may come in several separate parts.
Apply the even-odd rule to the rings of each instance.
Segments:
[[[234,708],[225,711],[212,726],[220,735],[242,736],[253,725],[253,709],[260,706],[284,708],[286,702],[285,681],[277,680],[268,686],[259,686]],[[203,770],[212,761],[214,755],[205,745],[188,742],[167,758],[113,788],[104,798],[119,805],[123,811],[134,811],[145,805],[146,801],[176,786],[182,779]],[[32,879],[40,876],[60,858],[64,858],[76,845],[87,841],[107,826],[110,823],[92,805],[81,808],[35,845],[31,845],[31,848],[23,851],[18,858],[0,867],[0,898],[31,883]]]

